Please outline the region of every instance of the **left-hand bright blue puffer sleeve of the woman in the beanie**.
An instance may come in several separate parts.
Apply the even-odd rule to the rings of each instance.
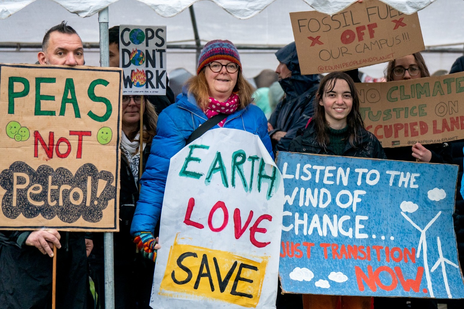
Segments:
[[[169,161],[185,146],[185,138],[175,122],[165,112],[158,118],[157,135],[153,139],[140,198],[135,208],[130,233],[154,232],[160,219]]]

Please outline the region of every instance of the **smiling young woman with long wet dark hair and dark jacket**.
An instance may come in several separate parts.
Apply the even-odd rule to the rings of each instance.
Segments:
[[[290,151],[357,158],[386,159],[379,140],[364,129],[353,79],[343,72],[322,78],[316,93],[315,115],[303,135],[290,142]],[[303,295],[304,309],[369,309],[371,297]]]

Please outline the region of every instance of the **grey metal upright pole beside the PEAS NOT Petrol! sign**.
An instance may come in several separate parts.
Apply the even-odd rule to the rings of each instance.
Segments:
[[[110,65],[110,43],[108,39],[108,7],[98,13],[98,24],[100,26],[100,66]],[[115,199],[116,201],[116,199]],[[104,268],[105,268],[105,308],[115,308],[114,288],[114,251],[113,233],[104,233]]]

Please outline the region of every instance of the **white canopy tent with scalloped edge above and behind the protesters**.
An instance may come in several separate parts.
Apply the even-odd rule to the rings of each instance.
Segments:
[[[288,13],[313,10],[311,6],[319,11],[335,13],[352,2],[353,0],[3,0],[0,1],[0,18],[4,18],[0,19],[0,62],[37,61],[39,49],[27,46],[39,46],[45,30],[62,20],[67,20],[84,42],[93,43],[89,46],[98,46],[98,21],[95,13],[109,5],[110,26],[167,25],[168,48],[171,47],[168,53],[168,72],[183,67],[193,73],[196,65],[195,37],[187,7],[194,3],[200,43],[205,44],[215,38],[231,40],[240,48],[245,76],[253,77],[263,69],[275,69],[275,50],[293,41]],[[431,73],[438,69],[449,70],[454,60],[462,55],[464,32],[459,30],[464,22],[463,0],[384,2],[407,12],[425,7],[419,11],[425,46],[438,46],[440,50],[446,50],[424,53]],[[80,16],[94,15],[80,18],[76,14],[70,14],[64,6]],[[20,7],[23,8],[19,9]],[[12,15],[8,17],[10,14]],[[253,17],[250,18],[251,16]],[[183,48],[173,49],[172,46]],[[456,52],[450,53],[453,47]],[[85,59],[86,64],[98,66],[98,48],[86,49]],[[384,67],[384,64],[378,64],[361,70],[370,76],[380,77]]]

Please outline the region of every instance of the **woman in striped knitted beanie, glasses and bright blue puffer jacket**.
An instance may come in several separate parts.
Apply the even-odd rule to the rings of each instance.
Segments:
[[[232,42],[213,40],[206,43],[198,61],[197,75],[187,81],[183,90],[176,102],[159,115],[157,135],[142,176],[140,198],[131,226],[139,250],[153,261],[159,247],[153,232],[160,219],[169,161],[186,146],[195,129],[219,114],[220,121],[213,128],[233,128],[258,135],[274,158],[266,117],[259,107],[250,104],[253,88],[243,76],[240,56]]]

